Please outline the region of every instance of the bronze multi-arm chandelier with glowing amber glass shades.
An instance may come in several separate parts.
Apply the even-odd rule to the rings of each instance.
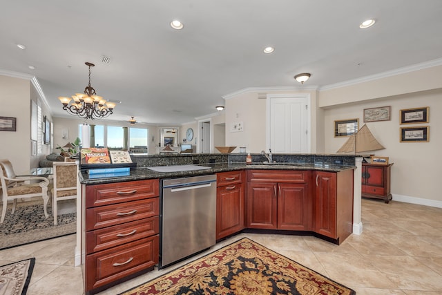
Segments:
[[[89,67],[89,84],[84,88],[84,93],[75,93],[72,98],[60,96],[58,99],[63,104],[63,109],[68,113],[84,119],[102,119],[112,114],[115,103],[106,102],[106,99],[95,93],[95,89],[90,86],[90,67],[95,66],[95,64],[90,62],[84,64]],[[74,101],[69,105],[71,99],[74,99]]]

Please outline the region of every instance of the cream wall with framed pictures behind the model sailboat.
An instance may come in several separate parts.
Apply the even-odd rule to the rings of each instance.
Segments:
[[[394,199],[419,198],[439,201],[439,155],[442,146],[441,134],[442,89],[395,95],[374,99],[374,101],[340,105],[324,111],[325,152],[336,153],[348,137],[334,137],[334,120],[358,118],[363,123],[363,109],[378,106],[392,106],[391,120],[369,122],[367,126],[376,140],[385,149],[374,151],[376,155],[389,157],[392,166],[392,194]],[[430,123],[399,124],[399,111],[405,108],[430,106]],[[400,128],[407,126],[430,126],[430,142],[400,142]],[[414,200],[418,203],[424,200]],[[427,203],[430,204],[430,203]],[[437,204],[437,203],[436,203]],[[435,205],[435,204],[432,204]]]

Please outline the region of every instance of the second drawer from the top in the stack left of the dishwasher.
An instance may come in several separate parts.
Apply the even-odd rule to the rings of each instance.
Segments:
[[[86,209],[86,231],[101,229],[160,214],[159,198]]]

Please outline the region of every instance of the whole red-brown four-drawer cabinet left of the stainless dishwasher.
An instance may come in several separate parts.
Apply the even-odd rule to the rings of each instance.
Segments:
[[[86,186],[87,294],[158,263],[159,183],[155,179]]]

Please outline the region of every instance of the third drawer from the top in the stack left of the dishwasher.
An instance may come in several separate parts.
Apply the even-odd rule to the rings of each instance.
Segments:
[[[159,233],[158,216],[86,232],[86,254]]]

